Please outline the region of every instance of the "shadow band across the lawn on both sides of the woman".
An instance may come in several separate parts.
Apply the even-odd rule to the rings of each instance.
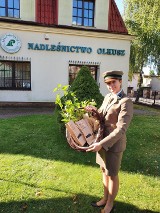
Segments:
[[[144,132],[143,140],[141,139],[144,144],[139,146],[140,136],[137,136],[135,132],[141,133],[140,126],[138,127],[141,125],[140,121],[135,119],[127,133],[129,140],[127,150],[124,152],[122,170],[159,176],[158,167],[156,167],[159,161],[158,155],[156,155],[156,151],[154,153],[150,151],[156,144],[149,143],[153,138],[152,135],[148,141],[148,135]],[[149,122],[150,120],[148,120]],[[33,115],[0,120],[0,126],[1,153],[22,154],[98,167],[95,163],[95,153],[78,152],[69,147],[65,135],[62,134],[60,126],[57,124],[56,116]],[[148,141],[147,149],[149,149],[150,155],[144,155],[145,151],[148,152],[145,148],[145,141]]]

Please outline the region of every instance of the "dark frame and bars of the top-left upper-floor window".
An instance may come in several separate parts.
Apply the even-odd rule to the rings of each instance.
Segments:
[[[15,2],[14,2],[14,0],[13,0],[13,7],[10,7],[9,6],[9,0],[5,0],[4,2],[5,2],[5,5],[4,6],[0,6],[0,10],[3,8],[3,9],[5,9],[5,15],[4,16],[2,16],[2,15],[0,15],[0,17],[8,17],[8,18],[17,18],[17,19],[19,19],[20,18],[20,0],[18,0],[19,2],[18,2],[18,8],[17,7],[15,7]],[[13,13],[13,16],[11,16],[11,15],[9,15],[9,10],[12,10],[12,13]],[[19,13],[19,15],[18,15],[18,17],[17,16],[15,16],[15,11],[18,11]]]

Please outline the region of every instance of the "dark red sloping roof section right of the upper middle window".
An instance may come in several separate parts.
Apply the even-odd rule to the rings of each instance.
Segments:
[[[128,30],[114,0],[109,0],[108,31],[128,34]]]

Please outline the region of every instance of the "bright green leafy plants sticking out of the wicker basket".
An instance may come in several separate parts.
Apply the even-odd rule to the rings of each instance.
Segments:
[[[69,85],[62,86],[61,84],[58,84],[53,91],[59,92],[56,95],[55,104],[57,104],[60,108],[60,114],[62,117],[61,121],[64,123],[67,123],[70,120],[78,121],[82,119],[85,114],[84,107],[87,105],[96,105],[94,100],[86,99],[80,101],[76,97],[76,93],[69,89]],[[60,94],[63,94],[62,98]]]

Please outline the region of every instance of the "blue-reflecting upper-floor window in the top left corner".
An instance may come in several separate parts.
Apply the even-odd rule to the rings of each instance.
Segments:
[[[0,16],[19,18],[20,1],[19,0],[0,0]]]

